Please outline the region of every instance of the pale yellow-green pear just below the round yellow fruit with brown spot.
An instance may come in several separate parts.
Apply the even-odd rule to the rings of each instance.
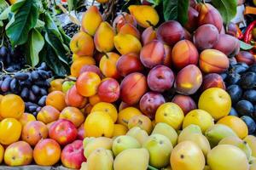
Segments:
[[[172,143],[172,146],[175,146],[177,144],[177,132],[173,127],[171,127],[167,123],[165,122],[157,123],[151,134],[155,134],[155,133],[166,136]]]

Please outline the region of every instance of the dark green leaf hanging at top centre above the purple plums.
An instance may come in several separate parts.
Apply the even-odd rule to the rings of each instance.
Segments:
[[[165,20],[177,20],[182,25],[188,21],[189,0],[163,0]]]

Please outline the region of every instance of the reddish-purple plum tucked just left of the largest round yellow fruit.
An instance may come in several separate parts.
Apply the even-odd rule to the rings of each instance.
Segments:
[[[186,95],[177,94],[172,99],[172,102],[177,104],[183,110],[184,115],[189,113],[189,111],[196,109],[195,101]]]

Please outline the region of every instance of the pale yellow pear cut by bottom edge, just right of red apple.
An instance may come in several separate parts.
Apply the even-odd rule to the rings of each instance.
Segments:
[[[88,170],[112,170],[113,156],[111,150],[98,148],[87,159]]]

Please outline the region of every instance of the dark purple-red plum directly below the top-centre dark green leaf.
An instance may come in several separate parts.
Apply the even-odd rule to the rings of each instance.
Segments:
[[[161,24],[157,30],[157,38],[167,45],[173,46],[185,37],[183,26],[175,20],[169,20]]]

